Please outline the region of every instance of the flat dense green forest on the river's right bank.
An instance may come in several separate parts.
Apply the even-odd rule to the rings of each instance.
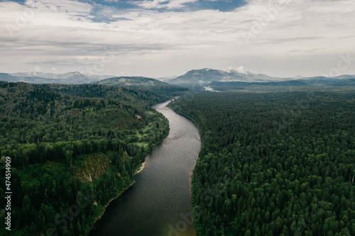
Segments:
[[[197,123],[198,235],[355,235],[355,93],[212,93],[171,104]]]

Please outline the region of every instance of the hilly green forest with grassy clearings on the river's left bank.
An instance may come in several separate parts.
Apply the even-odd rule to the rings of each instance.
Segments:
[[[11,157],[11,235],[87,235],[168,135],[168,120],[148,107],[164,99],[119,87],[0,82],[1,166]],[[1,209],[2,225],[4,214]]]

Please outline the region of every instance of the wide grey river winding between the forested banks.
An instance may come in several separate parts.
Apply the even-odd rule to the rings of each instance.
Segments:
[[[197,127],[160,103],[155,108],[168,118],[170,133],[146,157],[136,184],[112,201],[89,236],[194,236],[191,213],[192,169],[200,152]]]

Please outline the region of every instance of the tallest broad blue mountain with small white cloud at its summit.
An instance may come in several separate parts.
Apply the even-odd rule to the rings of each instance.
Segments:
[[[232,69],[227,72],[220,69],[193,69],[186,74],[170,79],[170,84],[201,84],[207,85],[212,82],[263,82],[280,81],[282,78],[269,77],[266,74],[253,74],[251,72],[239,73]]]

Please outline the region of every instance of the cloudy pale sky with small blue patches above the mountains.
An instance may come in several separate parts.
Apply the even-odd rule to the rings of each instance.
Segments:
[[[354,0],[0,0],[0,72],[355,74]]]

